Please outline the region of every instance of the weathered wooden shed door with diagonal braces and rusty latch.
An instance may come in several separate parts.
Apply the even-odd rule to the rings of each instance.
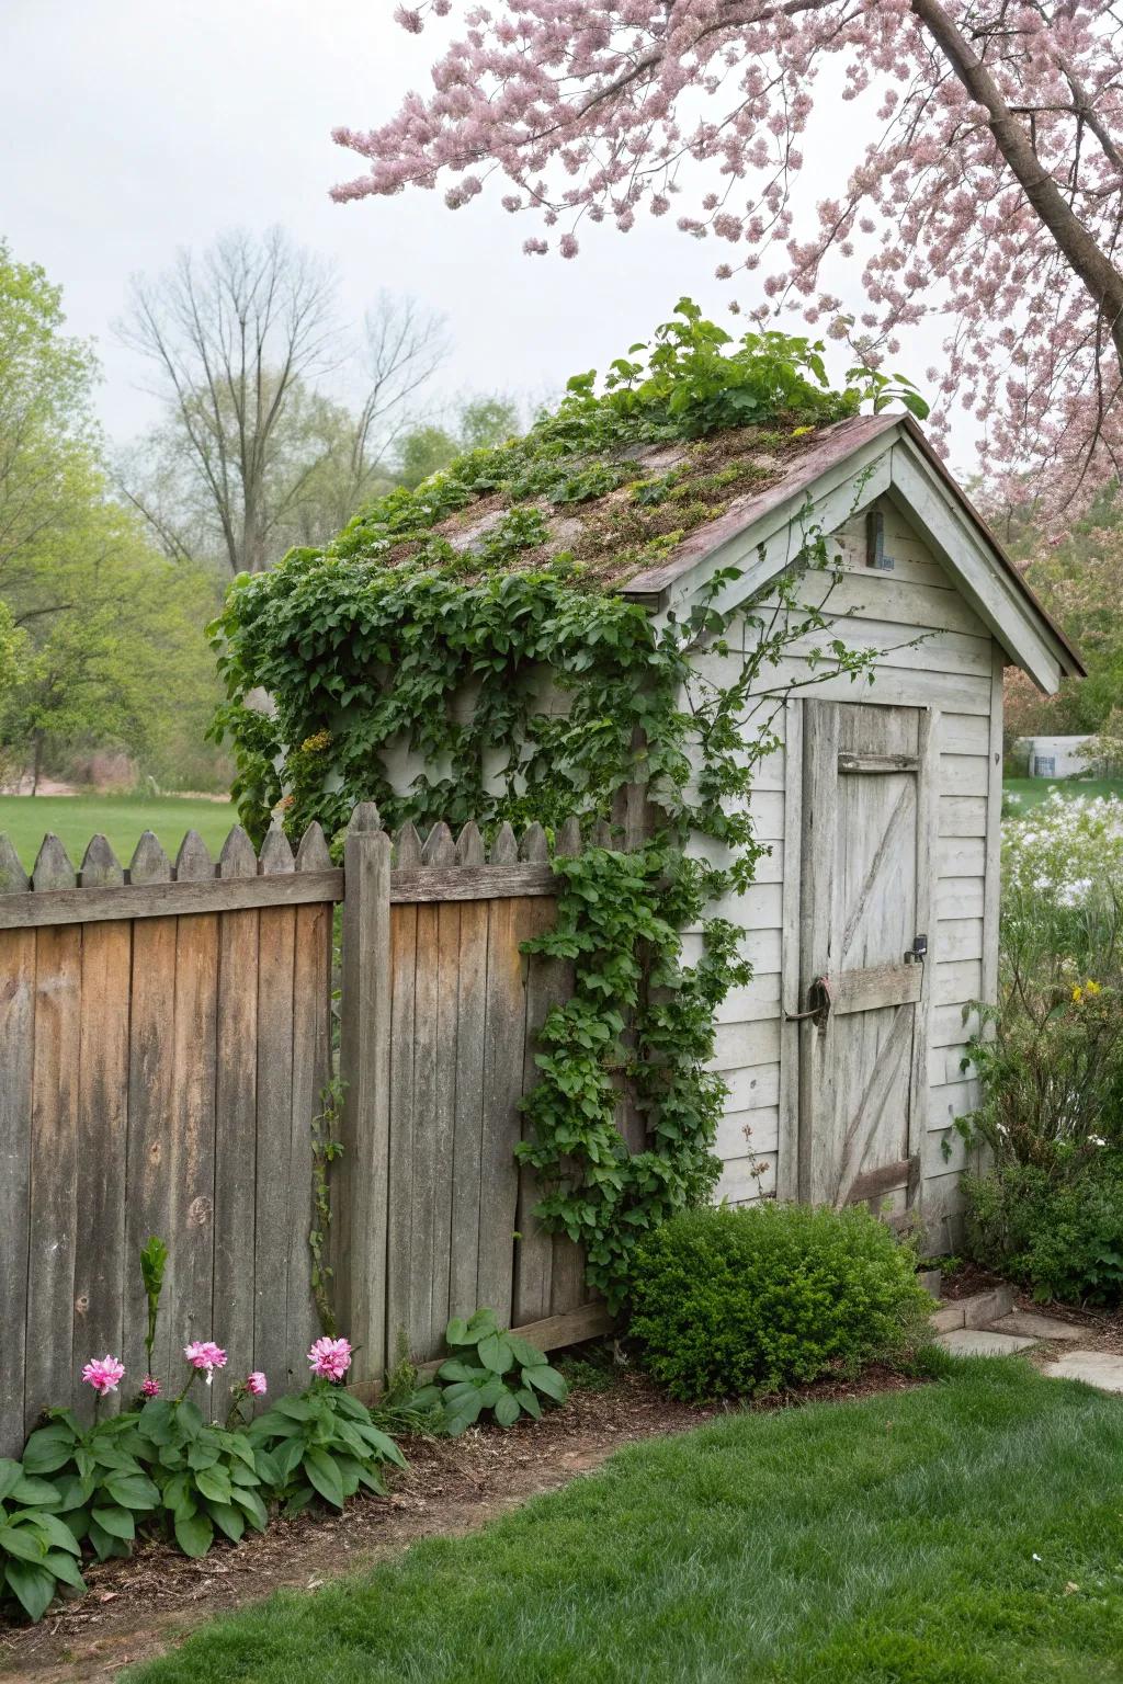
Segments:
[[[931,909],[918,707],[805,702],[800,1196],[902,1216],[919,1186]]]

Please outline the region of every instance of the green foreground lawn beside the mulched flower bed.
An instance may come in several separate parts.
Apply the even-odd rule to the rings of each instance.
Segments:
[[[1110,1684],[1123,1399],[1015,1361],[625,1450],[133,1684]]]

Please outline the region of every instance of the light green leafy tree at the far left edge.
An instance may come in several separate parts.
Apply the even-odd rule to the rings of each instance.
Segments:
[[[57,288],[0,246],[0,761],[32,783],[79,749],[123,749],[162,781],[217,701],[212,574],[157,554],[108,492],[96,362]]]

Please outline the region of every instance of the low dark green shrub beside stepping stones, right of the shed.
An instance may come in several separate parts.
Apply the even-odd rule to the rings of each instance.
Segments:
[[[1123,1159],[1103,1148],[1069,1175],[1000,1162],[966,1175],[966,1239],[987,1268],[1024,1282],[1042,1303],[1123,1300]]]

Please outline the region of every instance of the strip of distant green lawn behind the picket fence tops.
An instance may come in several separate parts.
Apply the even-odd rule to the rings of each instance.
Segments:
[[[158,800],[128,795],[0,795],[0,832],[7,830],[12,837],[29,871],[47,830],[62,839],[74,866],[81,864],[86,844],[98,832],[109,839],[121,864],[128,866],[141,830],[155,830],[175,859],[185,830],[197,830],[210,852],[217,854],[236,820],[231,802],[199,802],[175,795]]]

